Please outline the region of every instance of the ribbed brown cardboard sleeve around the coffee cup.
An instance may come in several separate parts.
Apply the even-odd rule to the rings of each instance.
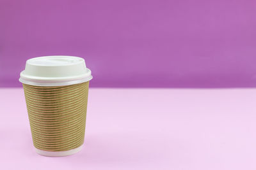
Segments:
[[[34,146],[67,151],[84,143],[89,81],[40,87],[23,83]]]

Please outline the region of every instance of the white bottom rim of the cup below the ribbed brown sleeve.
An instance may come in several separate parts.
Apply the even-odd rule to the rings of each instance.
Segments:
[[[72,150],[58,151],[58,152],[39,150],[38,148],[35,148],[35,150],[36,150],[36,153],[43,155],[45,157],[65,157],[65,156],[73,155],[74,153],[79,152],[80,150],[82,150],[82,148],[83,148],[83,145],[79,146],[78,148],[74,148]]]

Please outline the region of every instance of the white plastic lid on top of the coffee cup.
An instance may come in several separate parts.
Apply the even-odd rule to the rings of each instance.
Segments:
[[[84,59],[65,55],[36,57],[26,62],[19,81],[28,85],[73,85],[92,80]]]

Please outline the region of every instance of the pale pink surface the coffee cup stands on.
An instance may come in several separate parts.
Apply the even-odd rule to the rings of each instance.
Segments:
[[[22,89],[0,89],[0,169],[256,169],[256,90],[91,89],[84,148],[33,150]]]

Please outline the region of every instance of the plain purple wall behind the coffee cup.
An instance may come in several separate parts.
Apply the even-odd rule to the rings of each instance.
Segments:
[[[256,1],[0,1],[0,87],[31,57],[86,59],[93,87],[256,87]]]

